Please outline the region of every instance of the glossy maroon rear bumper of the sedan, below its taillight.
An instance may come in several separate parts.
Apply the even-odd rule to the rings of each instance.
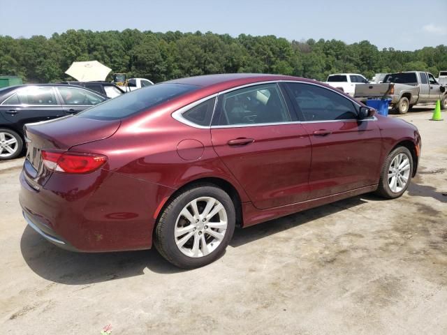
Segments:
[[[30,227],[54,245],[82,252],[151,248],[154,213],[174,191],[107,170],[54,173],[38,190],[22,171],[20,184]]]

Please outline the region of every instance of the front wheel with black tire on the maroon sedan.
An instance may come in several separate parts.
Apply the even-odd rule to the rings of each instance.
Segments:
[[[397,147],[383,163],[376,193],[387,199],[399,198],[408,188],[412,172],[413,157],[409,149]]]

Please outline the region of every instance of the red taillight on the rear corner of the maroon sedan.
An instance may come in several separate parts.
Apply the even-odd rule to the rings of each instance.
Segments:
[[[107,157],[98,154],[80,154],[42,150],[45,167],[52,171],[65,173],[87,173],[101,167]]]

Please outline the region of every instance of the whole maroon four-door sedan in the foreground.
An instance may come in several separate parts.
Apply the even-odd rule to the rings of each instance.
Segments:
[[[75,251],[154,243],[183,268],[216,260],[236,226],[372,191],[397,198],[420,154],[415,126],[281,75],[163,82],[26,133],[32,228]]]

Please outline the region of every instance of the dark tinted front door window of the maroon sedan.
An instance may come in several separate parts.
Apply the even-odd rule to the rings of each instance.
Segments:
[[[289,94],[304,121],[332,121],[357,118],[356,106],[335,91],[312,84],[288,83]]]

